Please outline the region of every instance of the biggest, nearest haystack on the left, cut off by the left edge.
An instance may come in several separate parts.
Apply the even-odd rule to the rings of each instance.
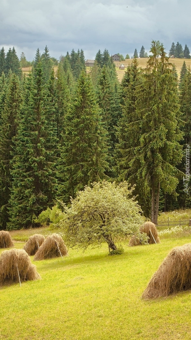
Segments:
[[[19,282],[18,272],[21,282],[41,278],[25,250],[11,249],[2,252],[0,256],[0,286]]]

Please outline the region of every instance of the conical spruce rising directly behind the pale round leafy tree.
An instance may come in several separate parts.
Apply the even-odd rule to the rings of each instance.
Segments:
[[[71,111],[65,117],[58,174],[59,195],[69,202],[78,190],[105,178],[108,168],[106,132],[100,121],[91,79],[82,71]]]

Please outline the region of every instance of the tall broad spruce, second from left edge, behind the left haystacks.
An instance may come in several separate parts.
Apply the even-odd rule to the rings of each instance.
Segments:
[[[30,75],[27,79],[14,139],[9,230],[38,226],[40,212],[54,205],[56,148],[55,118],[39,63],[35,78]]]

